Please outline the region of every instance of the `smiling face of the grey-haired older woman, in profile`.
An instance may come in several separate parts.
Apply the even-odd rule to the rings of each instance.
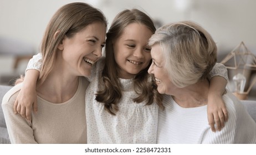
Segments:
[[[172,84],[166,69],[163,68],[162,48],[160,44],[155,44],[151,49],[152,64],[148,70],[149,74],[155,76],[157,91],[160,94],[172,95],[172,89],[176,86]]]

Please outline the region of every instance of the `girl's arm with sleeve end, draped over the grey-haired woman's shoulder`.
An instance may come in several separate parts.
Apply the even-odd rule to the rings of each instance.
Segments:
[[[217,63],[208,78],[211,80],[208,94],[207,115],[209,125],[212,131],[215,132],[216,129],[220,131],[221,128],[224,127],[224,122],[228,120],[227,108],[222,99],[228,80],[226,66]],[[216,123],[216,127],[214,127],[214,123]]]

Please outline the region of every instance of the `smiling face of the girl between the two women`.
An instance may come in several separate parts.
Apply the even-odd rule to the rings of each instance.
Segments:
[[[122,79],[131,79],[145,69],[151,60],[147,44],[152,32],[143,24],[131,23],[114,43],[115,61]]]

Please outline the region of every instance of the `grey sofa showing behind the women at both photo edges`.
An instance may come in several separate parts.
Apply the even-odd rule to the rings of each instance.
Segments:
[[[8,144],[11,143],[9,141],[9,135],[6,128],[6,121],[4,120],[3,110],[2,110],[2,99],[4,94],[11,89],[12,86],[3,86],[0,85],[0,143]],[[245,106],[250,116],[252,116],[253,120],[256,122],[256,101],[242,100],[242,104]]]

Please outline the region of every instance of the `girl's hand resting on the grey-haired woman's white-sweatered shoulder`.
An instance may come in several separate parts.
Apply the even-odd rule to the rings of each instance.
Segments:
[[[207,114],[212,131],[221,131],[224,127],[224,122],[228,120],[228,112],[222,96],[212,95],[208,97]]]

